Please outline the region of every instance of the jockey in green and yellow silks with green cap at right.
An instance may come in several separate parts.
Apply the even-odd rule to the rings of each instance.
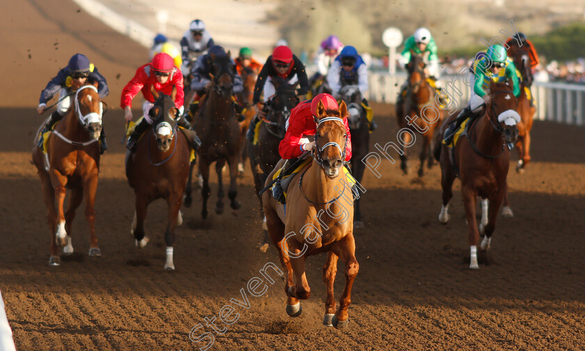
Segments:
[[[479,58],[477,58],[479,56]],[[487,54],[478,54],[473,66],[474,75],[469,75],[469,85],[473,85],[471,89],[471,96],[469,103],[464,108],[457,118],[449,123],[448,129],[444,134],[445,143],[448,145],[453,140],[453,136],[461,123],[470,115],[475,115],[481,112],[481,108],[489,102],[488,92],[486,89],[490,86],[490,81],[502,83],[511,80],[512,92],[514,96],[520,97],[520,72],[512,60],[508,58],[506,49],[500,44],[495,44],[490,47]]]

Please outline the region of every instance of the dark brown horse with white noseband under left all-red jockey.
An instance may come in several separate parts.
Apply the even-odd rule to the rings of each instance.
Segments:
[[[173,95],[176,90],[173,89]],[[191,149],[187,138],[178,130],[180,118],[175,99],[153,90],[156,101],[150,110],[153,125],[137,142],[136,152],[126,153],[126,177],[136,194],[134,220],[130,233],[137,247],[145,247],[148,236],[144,220],[150,202],[163,198],[169,206],[164,243],[166,263],[164,269],[174,270],[173,245],[175,227],[182,224],[180,207],[189,176]]]

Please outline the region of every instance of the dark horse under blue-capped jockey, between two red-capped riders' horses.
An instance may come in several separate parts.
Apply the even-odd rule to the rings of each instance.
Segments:
[[[203,177],[203,209],[201,215],[208,217],[208,199],[211,195],[209,187],[209,170],[215,161],[217,172],[218,200],[215,213],[224,212],[224,186],[221,177],[221,169],[228,162],[230,171],[230,187],[228,197],[232,209],[240,209],[237,196],[237,162],[240,158],[240,145],[242,144],[242,130],[237,122],[233,108],[233,81],[235,67],[231,61],[230,53],[225,56],[210,54],[212,60],[211,83],[212,86],[205,96],[204,106],[199,107],[196,117],[195,131],[201,139],[201,147],[198,149],[199,174]],[[191,197],[192,172],[189,171],[185,201]]]

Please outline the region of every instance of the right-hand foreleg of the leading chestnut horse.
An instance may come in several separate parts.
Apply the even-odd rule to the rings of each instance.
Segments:
[[[343,329],[348,326],[348,308],[352,303],[352,286],[359,271],[359,263],[355,259],[355,241],[353,233],[348,233],[341,241],[332,248],[338,256],[345,261],[345,288],[339,299],[339,308],[333,317],[334,327]]]

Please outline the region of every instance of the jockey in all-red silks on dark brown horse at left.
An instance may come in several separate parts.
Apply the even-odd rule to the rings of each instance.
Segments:
[[[136,151],[138,139],[150,127],[150,124],[153,124],[153,120],[150,120],[149,112],[154,106],[155,97],[153,97],[151,89],[165,95],[171,95],[173,88],[176,88],[175,107],[179,110],[179,116],[182,116],[184,97],[182,73],[175,67],[173,58],[164,53],[157,54],[151,63],[139,67],[134,78],[124,87],[120,106],[124,110],[126,122],[132,120],[132,99],[138,95],[138,92],[141,91],[144,99],[146,99],[142,104],[143,119],[137,124],[130,138],[128,138],[126,147],[130,152]],[[179,117],[177,124],[183,127],[181,131],[185,133],[187,140],[191,141],[194,148],[201,144],[191,124],[185,121],[184,118]]]

